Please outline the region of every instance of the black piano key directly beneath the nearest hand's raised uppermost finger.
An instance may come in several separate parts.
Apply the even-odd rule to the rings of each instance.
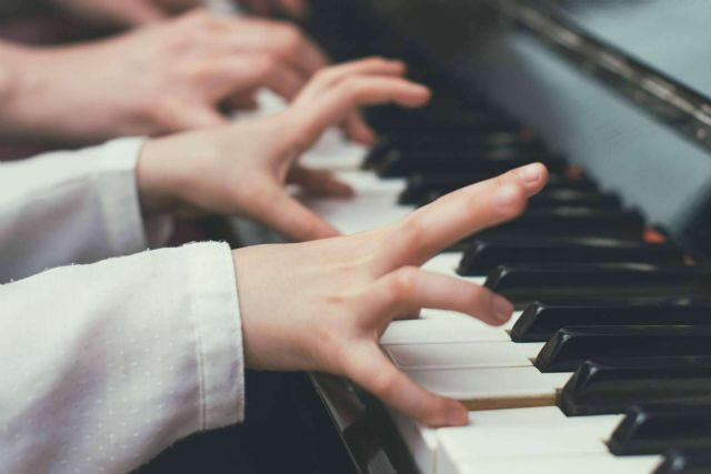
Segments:
[[[485,275],[504,263],[653,263],[683,264],[683,253],[670,244],[611,239],[570,240],[475,239],[464,251],[458,273]]]

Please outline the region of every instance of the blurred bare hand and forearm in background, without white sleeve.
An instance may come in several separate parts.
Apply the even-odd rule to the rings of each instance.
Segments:
[[[292,100],[327,63],[292,26],[193,11],[81,47],[8,49],[0,129],[83,143],[216,127],[260,89]]]

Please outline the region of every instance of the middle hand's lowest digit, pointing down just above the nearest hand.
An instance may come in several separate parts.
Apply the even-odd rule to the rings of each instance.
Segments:
[[[281,188],[266,194],[257,203],[252,216],[297,242],[340,235],[338,229],[304,208]]]

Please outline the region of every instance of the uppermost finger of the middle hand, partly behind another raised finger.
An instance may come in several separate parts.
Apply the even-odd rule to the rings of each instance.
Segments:
[[[342,80],[354,75],[391,75],[402,77],[405,72],[402,61],[392,61],[383,58],[367,58],[359,61],[344,62],[321,71],[304,90],[304,99],[321,94]]]

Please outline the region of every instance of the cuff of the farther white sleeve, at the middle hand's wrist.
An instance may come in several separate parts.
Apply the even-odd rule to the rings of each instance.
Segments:
[[[162,246],[173,232],[173,221],[168,215],[143,221],[136,169],[144,143],[144,138],[112,140],[102,145],[100,153],[98,194],[108,244],[116,255]]]

